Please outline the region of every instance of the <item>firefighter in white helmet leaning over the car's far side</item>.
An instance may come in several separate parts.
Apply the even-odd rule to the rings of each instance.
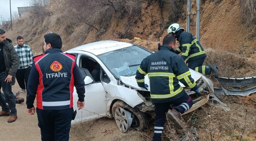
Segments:
[[[183,60],[186,60],[188,67],[203,75],[213,72],[215,78],[218,78],[218,68],[216,64],[203,65],[206,54],[198,41],[191,33],[185,32],[184,29],[177,23],[171,24],[167,30],[168,34],[175,36],[180,43],[180,47],[176,49],[175,53],[181,53]]]

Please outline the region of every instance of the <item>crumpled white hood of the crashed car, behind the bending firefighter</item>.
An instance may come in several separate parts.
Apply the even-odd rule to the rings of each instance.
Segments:
[[[199,72],[196,72],[192,69],[189,69],[190,70],[190,73],[191,73],[191,77],[194,79],[194,81],[197,81],[198,79],[200,79],[202,77],[202,74],[199,73]],[[133,76],[130,76],[130,77],[125,77],[125,76],[121,76],[120,75],[120,79],[123,83],[125,83],[126,85],[130,86],[130,87],[133,87],[133,88],[136,88],[138,90],[143,90],[143,91],[147,91],[146,89],[144,88],[141,88],[138,86],[137,82],[136,82],[136,79],[135,79],[135,75]],[[145,79],[144,79],[145,83],[148,84],[148,91],[150,91],[150,86],[149,86],[149,79],[148,79],[148,75],[145,76]],[[185,87],[181,82],[179,82],[179,84],[182,86],[182,87]]]

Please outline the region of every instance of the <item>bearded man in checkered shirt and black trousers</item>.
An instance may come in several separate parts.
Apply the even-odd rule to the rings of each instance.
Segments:
[[[25,93],[28,84],[28,76],[33,63],[33,53],[31,48],[24,44],[24,39],[21,36],[17,37],[17,43],[14,49],[19,56],[20,65],[16,72],[16,79],[21,88],[20,92]]]

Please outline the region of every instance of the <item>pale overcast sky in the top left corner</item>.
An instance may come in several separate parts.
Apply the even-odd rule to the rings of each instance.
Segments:
[[[17,7],[27,7],[29,6],[30,0],[11,0],[11,12],[17,11]],[[0,0],[0,20],[4,18],[4,21],[10,20],[10,0]]]

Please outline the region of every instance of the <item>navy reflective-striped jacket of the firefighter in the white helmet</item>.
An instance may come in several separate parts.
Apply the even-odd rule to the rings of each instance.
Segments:
[[[203,47],[193,34],[183,31],[178,38],[180,47],[176,49],[175,53],[182,53],[181,57],[183,60],[194,60],[206,57]]]

